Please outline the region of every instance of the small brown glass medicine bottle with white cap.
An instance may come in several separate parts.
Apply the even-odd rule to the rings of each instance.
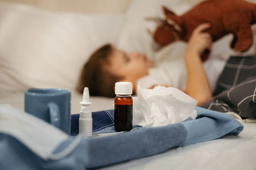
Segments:
[[[132,83],[115,83],[115,131],[132,130]]]

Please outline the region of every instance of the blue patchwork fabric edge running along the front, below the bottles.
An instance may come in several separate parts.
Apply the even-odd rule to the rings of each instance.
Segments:
[[[111,136],[83,138],[67,157],[56,160],[43,160],[26,148],[19,139],[0,133],[0,169],[86,169],[102,167],[125,160],[147,157],[170,148],[221,138],[225,135],[238,135],[243,130],[243,125],[224,113],[203,108],[196,108],[196,110],[198,111],[196,120],[163,127],[143,128]],[[95,114],[93,112],[93,115]],[[77,118],[73,120],[77,120]],[[95,119],[93,121],[96,123]],[[98,125],[102,126],[103,124],[104,121]],[[109,124],[109,127],[111,126],[113,125]],[[95,128],[93,127],[93,129]],[[99,128],[97,127],[97,129]],[[74,139],[70,136],[67,141],[56,148],[54,153],[65,150]]]

